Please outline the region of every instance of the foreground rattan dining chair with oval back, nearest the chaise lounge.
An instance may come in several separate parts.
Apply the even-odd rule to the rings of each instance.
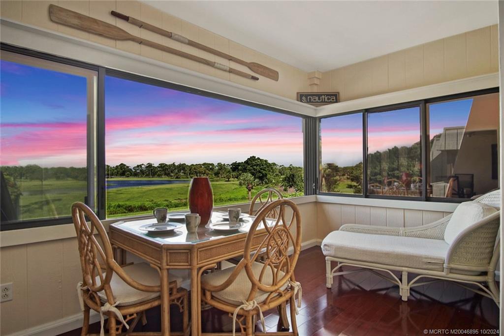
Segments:
[[[266,215],[275,208],[278,218],[268,227]],[[260,225],[267,231],[267,236],[262,241],[255,239]],[[260,263],[256,260],[263,248],[266,248],[266,258],[264,263]],[[289,248],[292,248],[290,255]],[[247,336],[266,333],[265,329],[262,333],[255,333],[256,315],[260,315],[265,328],[262,312],[290,302],[292,331],[274,334],[297,336],[295,295],[299,293],[300,305],[301,285],[294,278],[294,268],[300,249],[299,210],[289,199],[273,201],[261,210],[251,224],[243,259],[236,266],[202,276],[202,300],[233,314],[232,334],[235,334],[235,321],[238,321],[241,333]]]

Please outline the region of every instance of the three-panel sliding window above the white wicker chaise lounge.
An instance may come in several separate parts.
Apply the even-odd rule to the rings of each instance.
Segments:
[[[462,201],[496,189],[498,109],[489,89],[324,117],[319,190]]]

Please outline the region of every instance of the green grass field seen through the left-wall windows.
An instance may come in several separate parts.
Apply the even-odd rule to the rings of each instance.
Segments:
[[[72,203],[84,201],[87,194],[85,181],[51,179],[43,184],[40,180],[18,180],[17,183],[23,192],[20,197],[20,219],[23,220],[70,216]],[[109,189],[107,218],[151,214],[157,207],[170,211],[188,209],[188,189],[189,182]],[[214,206],[248,201],[246,188],[237,181],[212,181],[212,189]],[[253,194],[260,189],[253,190]]]

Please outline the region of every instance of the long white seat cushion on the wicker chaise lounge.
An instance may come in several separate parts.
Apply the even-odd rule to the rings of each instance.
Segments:
[[[333,231],[322,242],[326,256],[443,271],[449,245],[440,239]]]

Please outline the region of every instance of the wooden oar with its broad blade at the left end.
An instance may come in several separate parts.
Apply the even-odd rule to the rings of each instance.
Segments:
[[[89,16],[74,11],[70,11],[56,5],[49,5],[49,16],[51,18],[51,21],[59,23],[61,25],[69,26],[75,29],[86,31],[88,33],[104,36],[115,40],[134,41],[143,45],[147,45],[149,47],[169,52],[174,55],[192,59],[194,61],[212,66],[215,69],[219,69],[251,80],[255,81],[259,80],[259,78],[256,76],[252,76],[242,71],[230,68],[227,65],[217,63],[209,59],[205,59],[184,51],[173,49],[165,45],[143,39],[104,21],[97,20]]]

